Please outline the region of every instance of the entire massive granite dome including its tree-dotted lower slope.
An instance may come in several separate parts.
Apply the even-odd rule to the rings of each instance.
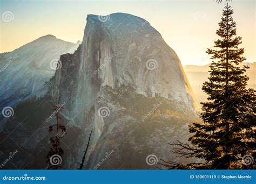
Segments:
[[[88,15],[82,44],[60,61],[50,96],[80,130],[66,167],[82,158],[91,129],[86,168],[156,168],[147,155],[174,158],[167,143],[187,139],[197,103],[177,54],[146,20]]]

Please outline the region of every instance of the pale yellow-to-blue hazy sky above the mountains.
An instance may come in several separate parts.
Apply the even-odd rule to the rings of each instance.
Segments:
[[[146,19],[167,44],[176,51],[183,65],[205,65],[205,54],[218,37],[221,12],[226,5],[215,0],[201,1],[1,1],[0,53],[9,52],[46,34],[59,39],[82,41],[86,16],[102,12],[131,13]],[[249,61],[255,59],[255,0],[232,0],[234,20],[242,47]],[[11,21],[3,16],[10,11]]]

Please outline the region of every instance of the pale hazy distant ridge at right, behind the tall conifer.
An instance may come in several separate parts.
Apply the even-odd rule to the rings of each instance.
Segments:
[[[248,88],[256,89],[256,62],[244,62],[240,63],[240,67],[243,65],[249,66],[250,69],[247,69],[246,75],[250,78],[248,81]],[[207,100],[207,95],[201,90],[203,83],[207,81],[209,75],[210,64],[205,66],[197,65],[186,65],[184,67],[185,73],[187,75],[188,81],[191,84],[191,87],[196,95],[197,102],[204,102]]]

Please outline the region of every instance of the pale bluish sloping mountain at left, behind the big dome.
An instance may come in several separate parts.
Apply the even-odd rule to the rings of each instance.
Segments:
[[[31,95],[45,94],[48,89],[43,85],[54,75],[59,56],[73,53],[78,45],[46,35],[0,54],[0,110],[14,108]]]

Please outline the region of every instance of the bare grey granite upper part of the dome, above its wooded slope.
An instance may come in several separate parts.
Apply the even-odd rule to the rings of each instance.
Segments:
[[[72,107],[66,109],[70,119],[84,102],[89,109],[89,103],[95,105],[102,88],[117,89],[122,84],[146,97],[180,102],[186,110],[197,105],[177,54],[159,32],[136,16],[113,13],[101,22],[89,15],[82,45],[74,54],[60,56],[60,61],[63,67],[56,71],[51,96],[72,96]]]

